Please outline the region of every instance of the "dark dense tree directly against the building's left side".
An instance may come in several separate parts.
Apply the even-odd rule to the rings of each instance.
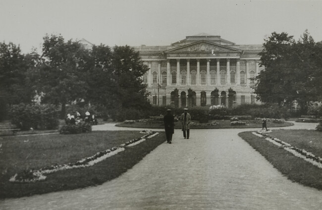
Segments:
[[[142,110],[147,101],[142,76],[148,70],[138,52],[129,46],[94,46],[93,68],[88,76],[87,99],[108,109],[135,108]]]

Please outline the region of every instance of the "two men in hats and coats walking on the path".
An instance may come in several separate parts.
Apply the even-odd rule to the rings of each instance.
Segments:
[[[171,109],[167,109],[166,112],[166,115],[164,115],[163,117],[164,130],[166,142],[168,144],[171,144],[172,134],[174,133],[174,116],[173,114],[171,114]],[[182,125],[183,138],[189,139],[191,116],[188,113],[188,108],[183,109],[183,113],[181,114],[180,120]]]

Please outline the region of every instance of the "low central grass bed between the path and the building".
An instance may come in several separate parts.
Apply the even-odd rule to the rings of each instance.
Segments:
[[[262,128],[262,122],[256,120],[241,120],[246,122],[246,125],[230,125],[230,120],[215,120],[219,124],[214,126],[190,126],[191,129],[219,129],[219,128]],[[199,123],[198,121],[194,121]],[[211,122],[211,121],[209,121]],[[271,127],[286,127],[291,126],[293,123],[291,122],[284,122],[282,124],[267,122],[268,129]],[[133,124],[124,124],[120,123],[116,126],[119,127],[133,127],[133,128],[164,128],[164,124],[162,121],[153,121],[153,122],[135,122]],[[174,128],[180,129],[181,122],[175,122]]]

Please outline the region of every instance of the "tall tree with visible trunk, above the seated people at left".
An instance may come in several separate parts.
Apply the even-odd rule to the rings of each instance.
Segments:
[[[65,42],[60,35],[47,35],[43,39],[39,93],[43,93],[42,103],[61,105],[63,118],[66,104],[85,98],[87,88],[81,78],[89,52],[79,42]]]

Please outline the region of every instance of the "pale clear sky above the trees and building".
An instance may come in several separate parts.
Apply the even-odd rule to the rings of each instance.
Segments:
[[[43,37],[167,46],[199,33],[237,45],[272,32],[322,41],[322,0],[0,0],[0,42],[41,52]]]

